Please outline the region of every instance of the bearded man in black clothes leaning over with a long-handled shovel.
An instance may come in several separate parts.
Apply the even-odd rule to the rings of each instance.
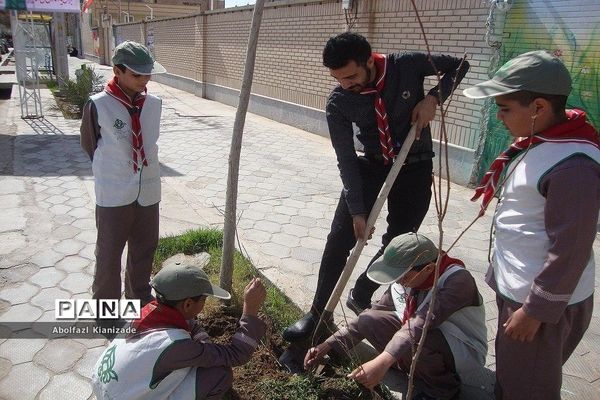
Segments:
[[[425,96],[423,81],[436,74],[432,63],[442,78]],[[350,250],[369,235],[365,232],[368,214],[412,124],[417,125],[418,140],[388,195],[388,227],[371,263],[392,238],[419,229],[431,199],[434,152],[428,125],[440,98],[450,96],[469,68],[466,61],[447,55],[429,59],[423,53],[372,53],[369,42],[353,32],[329,39],[323,65],[339,82],[327,100],[326,115],[344,188],[327,236],[311,310],[284,331],[288,341],[312,334]],[[353,124],[360,130],[357,139],[364,156],[356,154]],[[363,273],[347,305],[357,314],[370,307],[378,286]]]

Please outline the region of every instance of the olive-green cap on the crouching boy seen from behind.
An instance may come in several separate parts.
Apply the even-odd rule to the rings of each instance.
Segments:
[[[201,295],[225,300],[231,298],[228,291],[210,283],[208,275],[201,268],[185,262],[163,265],[150,284],[158,294],[169,301]]]

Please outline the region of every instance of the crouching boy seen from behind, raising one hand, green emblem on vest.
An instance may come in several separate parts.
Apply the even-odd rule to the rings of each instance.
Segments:
[[[196,316],[207,296],[231,295],[204,271],[185,263],[163,267],[151,282],[155,301],[134,321],[136,333],[115,339],[92,376],[101,399],[220,399],[232,384],[231,367],[248,362],[264,335],[257,317],[266,291],[254,278],[244,291],[243,315],[230,344],[214,344]]]

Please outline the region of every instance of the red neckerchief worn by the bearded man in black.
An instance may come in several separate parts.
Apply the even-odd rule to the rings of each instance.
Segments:
[[[381,98],[381,92],[385,86],[385,73],[387,70],[387,57],[385,54],[372,53],[373,60],[375,61],[375,69],[377,75],[375,76],[375,88],[365,89],[360,94],[375,94],[375,116],[377,118],[377,129],[379,130],[379,144],[381,145],[381,155],[383,156],[383,163],[388,164],[390,160],[396,157],[394,153],[394,144],[392,142],[392,135],[390,133],[390,124],[388,121],[387,112],[385,111],[385,104]]]

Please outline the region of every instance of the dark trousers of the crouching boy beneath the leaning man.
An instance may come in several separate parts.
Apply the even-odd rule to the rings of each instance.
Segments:
[[[400,329],[400,320],[393,311],[366,310],[358,317],[358,330],[382,352]],[[398,362],[400,370],[409,373],[412,355]],[[448,342],[439,329],[431,329],[416,365],[415,387],[437,399],[451,399],[460,390],[460,378]]]

